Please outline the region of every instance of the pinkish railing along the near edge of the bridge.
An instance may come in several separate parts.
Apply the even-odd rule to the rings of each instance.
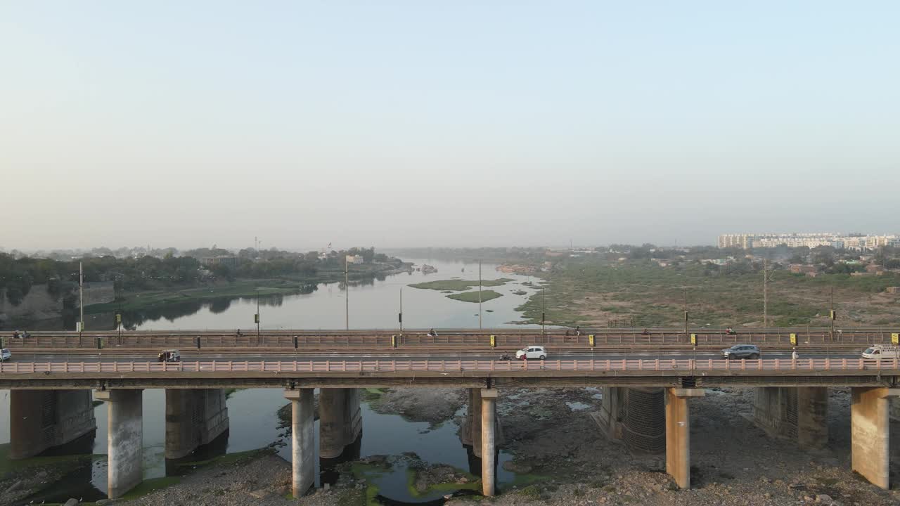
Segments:
[[[608,372],[608,371],[692,371],[742,372],[822,372],[887,371],[897,373],[900,363],[863,358],[800,358],[759,360],[715,359],[581,359],[543,361],[497,360],[323,360],[323,361],[197,361],[197,362],[22,362],[0,363],[0,375],[35,373],[393,373],[393,372]]]

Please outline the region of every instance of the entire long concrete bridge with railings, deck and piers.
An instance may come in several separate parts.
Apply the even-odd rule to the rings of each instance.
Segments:
[[[461,437],[482,458],[482,492],[495,492],[499,389],[603,388],[595,419],[629,447],[664,451],[666,470],[690,486],[689,400],[705,388],[757,389],[754,418],[802,447],[828,439],[828,387],[851,387],[852,468],[887,488],[888,398],[900,395],[896,358],[860,350],[896,342],[900,330],[278,330],[0,333],[13,360],[0,364],[11,393],[12,454],[31,456],[94,429],[91,391],[109,412],[111,498],[141,481],[145,388],[166,389],[166,457],[176,458],[228,428],[225,388],[281,388],[292,403],[293,494],[314,483],[312,395],[320,389],[320,456],[338,456],[360,434],[358,389],[464,387],[470,406]],[[762,356],[726,360],[721,348],[757,344]],[[543,345],[545,360],[499,360]],[[180,362],[157,362],[179,348]],[[800,358],[793,359],[797,348]],[[46,409],[52,405],[52,409]],[[49,413],[49,414],[48,414]],[[25,422],[23,420],[31,421]],[[42,420],[42,423],[33,423]]]

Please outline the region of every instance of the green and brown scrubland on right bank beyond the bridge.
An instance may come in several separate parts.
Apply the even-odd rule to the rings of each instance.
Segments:
[[[627,251],[542,260],[537,265],[552,264],[536,274],[544,281],[545,299],[538,292],[518,311],[524,312],[529,323],[539,322],[545,311],[548,322],[561,325],[680,326],[687,291],[692,325],[762,325],[763,261],[759,255],[745,258],[743,250],[717,248],[644,248],[638,255]],[[859,258],[860,254],[845,256]],[[787,251],[770,261],[770,326],[830,325],[832,288],[840,325],[900,324],[900,295],[887,292],[887,287],[900,285],[900,274],[885,270],[880,276],[852,276],[851,272],[865,269],[859,263],[843,262],[858,260],[829,258],[829,267],[828,262],[817,262],[817,257],[807,249],[805,255]],[[723,259],[722,265],[711,258]],[[893,265],[893,259],[883,262]],[[789,264],[810,261],[820,269],[815,277],[788,269]]]

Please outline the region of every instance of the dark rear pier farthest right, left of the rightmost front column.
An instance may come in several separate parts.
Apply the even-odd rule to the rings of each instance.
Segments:
[[[773,437],[796,440],[800,447],[825,447],[828,444],[828,387],[757,387],[753,422]]]

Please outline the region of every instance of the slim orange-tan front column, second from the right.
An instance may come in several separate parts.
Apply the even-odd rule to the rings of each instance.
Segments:
[[[682,489],[690,488],[690,410],[691,397],[706,393],[697,388],[666,388],[666,473]]]

